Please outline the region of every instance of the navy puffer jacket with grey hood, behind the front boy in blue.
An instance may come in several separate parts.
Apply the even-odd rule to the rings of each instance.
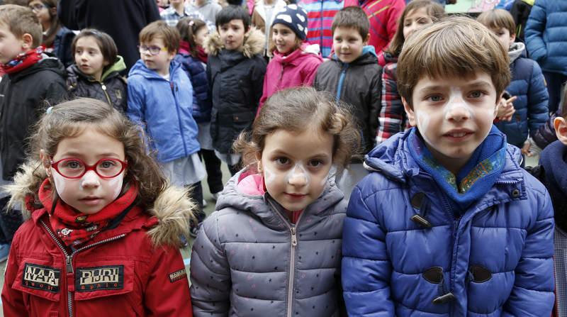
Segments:
[[[545,87],[544,75],[537,62],[520,57],[525,50],[524,43],[514,43],[510,55],[510,71],[512,82],[506,87],[511,96],[517,96],[514,101],[516,112],[511,121],[500,121],[496,126],[507,138],[508,143],[522,148],[529,135],[534,135],[537,129],[549,119],[549,94]]]

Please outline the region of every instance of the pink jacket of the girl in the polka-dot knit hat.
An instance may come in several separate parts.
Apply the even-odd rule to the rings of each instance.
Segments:
[[[315,74],[323,59],[319,55],[319,45],[308,45],[303,43],[301,48],[294,50],[288,55],[281,55],[274,50],[274,57],[266,68],[264,76],[264,90],[258,113],[269,96],[282,89],[311,86],[315,80]]]

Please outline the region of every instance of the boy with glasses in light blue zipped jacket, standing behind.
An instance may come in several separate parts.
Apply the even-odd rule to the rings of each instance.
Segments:
[[[150,138],[151,150],[169,182],[192,187],[191,198],[202,209],[201,179],[206,175],[198,157],[197,123],[193,119],[193,88],[174,57],[179,31],[155,21],[140,31],[141,59],[128,74],[128,117]],[[201,212],[197,213],[199,221]],[[196,236],[197,227],[191,228]]]

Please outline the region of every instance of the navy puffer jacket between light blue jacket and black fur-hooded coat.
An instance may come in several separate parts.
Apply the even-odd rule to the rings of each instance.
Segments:
[[[208,80],[205,67],[190,54],[180,52],[175,55],[174,60],[181,64],[185,73],[191,80],[193,87],[193,118],[198,123],[210,121],[210,109],[213,105],[208,97]]]

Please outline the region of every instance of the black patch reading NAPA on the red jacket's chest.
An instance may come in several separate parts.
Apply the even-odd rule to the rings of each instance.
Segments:
[[[26,263],[23,267],[22,286],[57,293],[60,277],[61,269]]]

